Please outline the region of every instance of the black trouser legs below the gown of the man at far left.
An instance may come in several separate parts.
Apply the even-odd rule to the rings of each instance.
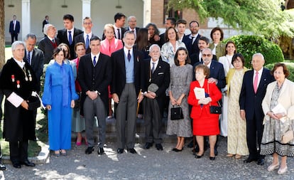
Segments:
[[[28,159],[28,140],[22,142],[9,142],[10,160],[14,163],[24,162]]]

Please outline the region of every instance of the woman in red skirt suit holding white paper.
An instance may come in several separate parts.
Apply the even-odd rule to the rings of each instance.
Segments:
[[[214,145],[219,134],[219,115],[211,114],[209,106],[217,106],[217,101],[222,99],[222,93],[214,83],[207,83],[209,78],[209,68],[206,65],[197,65],[195,68],[196,80],[190,84],[190,93],[187,101],[192,105],[191,117],[193,119],[193,135],[196,135],[199,152],[196,158],[201,158],[204,154],[204,137],[209,136],[209,159],[214,160]],[[195,93],[195,88],[203,88],[205,97],[200,91]],[[204,95],[202,95],[204,96]]]

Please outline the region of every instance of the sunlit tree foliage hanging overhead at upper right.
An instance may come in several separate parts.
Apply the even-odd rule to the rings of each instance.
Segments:
[[[170,0],[169,9],[195,9],[200,21],[223,18],[223,23],[265,38],[294,36],[294,14],[281,11],[278,0]]]

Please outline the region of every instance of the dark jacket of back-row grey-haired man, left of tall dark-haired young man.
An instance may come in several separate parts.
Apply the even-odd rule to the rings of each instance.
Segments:
[[[55,38],[56,46],[59,45],[59,39]],[[44,63],[48,64],[53,59],[54,46],[52,41],[46,36],[42,38],[38,44],[38,49],[44,53]]]

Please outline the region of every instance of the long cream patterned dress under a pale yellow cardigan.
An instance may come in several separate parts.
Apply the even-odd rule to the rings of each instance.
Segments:
[[[244,70],[235,70],[232,80],[229,82],[228,101],[228,154],[248,155],[249,150],[246,141],[246,121],[240,116],[239,95],[241,91]]]

